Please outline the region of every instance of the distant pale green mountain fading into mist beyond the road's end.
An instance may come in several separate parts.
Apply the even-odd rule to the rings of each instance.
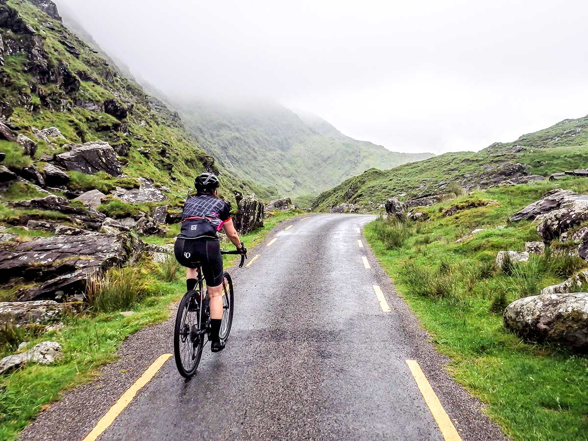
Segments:
[[[191,102],[178,108],[188,129],[223,167],[288,196],[316,195],[369,168],[432,156],[356,141],[317,116],[299,116],[275,104]]]

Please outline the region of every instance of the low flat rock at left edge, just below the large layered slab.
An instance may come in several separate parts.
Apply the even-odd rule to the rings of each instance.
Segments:
[[[59,322],[64,316],[76,312],[71,303],[58,303],[54,300],[35,302],[0,302],[0,324],[24,326],[49,325]]]

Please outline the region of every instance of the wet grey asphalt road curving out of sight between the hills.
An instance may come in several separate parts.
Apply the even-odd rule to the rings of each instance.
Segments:
[[[463,439],[502,439],[440,368],[365,241],[359,247],[358,229],[373,216],[301,218],[273,230],[248,268],[231,270],[227,348],[206,346],[189,382],[168,360],[99,440],[443,440],[406,365],[419,357],[443,383],[432,381]],[[22,439],[83,439],[171,343],[172,320],[132,336],[119,362],[49,407]]]

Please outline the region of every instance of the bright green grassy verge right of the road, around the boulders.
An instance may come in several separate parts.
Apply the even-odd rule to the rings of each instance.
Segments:
[[[557,258],[562,245],[556,243],[525,265],[493,265],[498,251],[522,250],[526,240],[538,240],[530,222],[509,224],[507,218],[557,185],[493,188],[425,209],[426,222],[379,219],[365,229],[400,294],[437,349],[450,356],[450,373],[516,440],[586,440],[588,433],[588,359],[524,343],[502,324],[502,310],[512,300],[537,294],[586,262]],[[583,191],[586,181],[564,185]],[[497,203],[443,213],[475,199]],[[476,228],[485,230],[456,243]]]

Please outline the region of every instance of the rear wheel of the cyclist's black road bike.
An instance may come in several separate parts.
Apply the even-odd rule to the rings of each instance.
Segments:
[[[200,293],[188,291],[183,296],[173,330],[173,355],[181,376],[190,378],[196,373],[204,347],[201,332]]]

